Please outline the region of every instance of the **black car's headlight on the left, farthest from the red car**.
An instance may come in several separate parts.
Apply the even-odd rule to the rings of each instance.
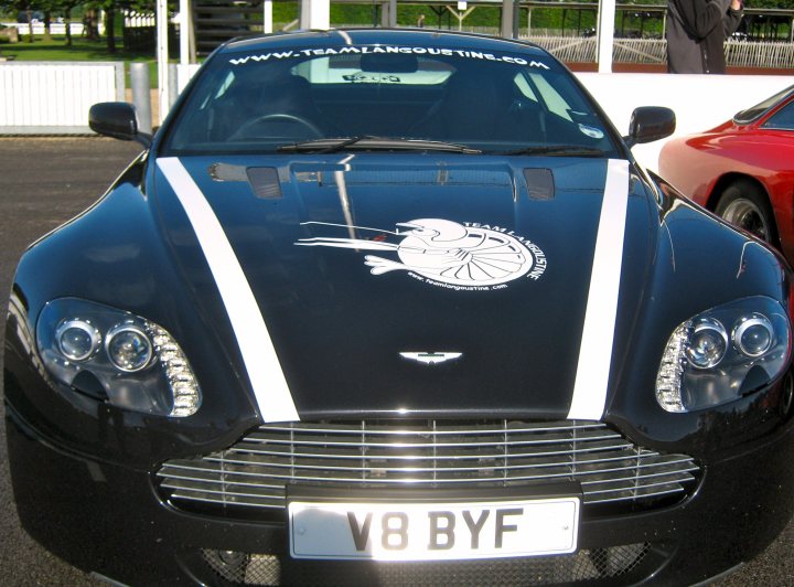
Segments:
[[[51,301],[36,344],[52,376],[73,392],[135,412],[184,417],[201,389],[182,349],[158,324],[74,298]]]

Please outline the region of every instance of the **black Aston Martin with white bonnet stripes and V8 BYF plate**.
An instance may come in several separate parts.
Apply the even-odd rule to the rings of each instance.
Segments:
[[[26,531],[135,585],[690,584],[794,501],[790,271],[521,42],[217,50],[31,246],[4,391]]]

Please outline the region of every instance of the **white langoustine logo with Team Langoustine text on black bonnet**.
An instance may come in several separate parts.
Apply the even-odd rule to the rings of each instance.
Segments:
[[[302,224],[322,226],[330,234],[340,228],[376,233],[372,238],[316,236],[296,243],[390,254],[364,255],[373,275],[406,271],[437,287],[489,291],[503,289],[524,276],[539,279],[546,270],[546,255],[535,243],[487,224],[419,218],[397,223],[395,231],[323,222]]]

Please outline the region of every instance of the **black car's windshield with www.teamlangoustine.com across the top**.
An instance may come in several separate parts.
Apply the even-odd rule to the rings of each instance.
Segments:
[[[340,139],[350,150],[433,150],[436,142],[460,152],[558,145],[614,154],[608,125],[570,73],[538,55],[416,46],[221,53],[202,71],[164,151],[283,152],[296,143],[308,151],[302,143],[311,141],[328,151],[340,149],[329,139]]]

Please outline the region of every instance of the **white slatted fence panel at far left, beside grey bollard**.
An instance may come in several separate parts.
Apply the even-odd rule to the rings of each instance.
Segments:
[[[88,108],[124,99],[121,62],[0,63],[0,135],[90,132]]]

